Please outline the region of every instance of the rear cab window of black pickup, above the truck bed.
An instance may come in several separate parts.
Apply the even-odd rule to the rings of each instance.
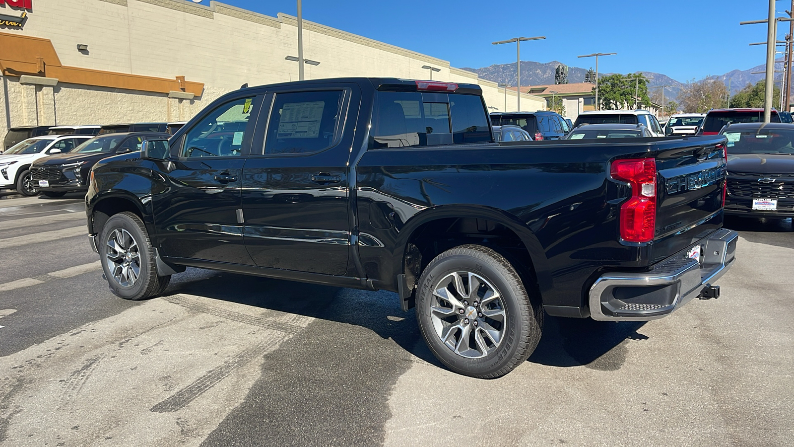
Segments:
[[[381,91],[370,149],[491,142],[477,95]]]

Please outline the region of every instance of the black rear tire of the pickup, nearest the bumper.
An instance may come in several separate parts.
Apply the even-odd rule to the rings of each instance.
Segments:
[[[471,290],[464,290],[467,294],[457,294],[449,286],[443,286],[444,282],[450,282],[451,286],[454,283],[453,278],[456,275],[463,278],[463,274],[466,274],[466,278],[473,274],[475,278],[468,285],[461,282],[464,289],[476,286],[478,292],[472,294]],[[452,287],[457,290],[457,287]],[[500,298],[481,305],[478,300],[485,302],[488,301],[487,297],[494,296],[483,292],[490,288],[495,289]],[[445,301],[434,295],[434,290],[448,293],[448,297],[456,300],[460,298],[458,301],[461,304],[464,298],[473,301],[458,309],[452,301]],[[431,306],[445,312],[448,311],[446,307],[449,307],[454,312],[438,313],[431,311]],[[472,309],[476,310],[473,316]],[[461,310],[464,313],[461,314]],[[501,322],[485,315],[500,311],[503,313]],[[442,314],[447,316],[439,317]],[[466,318],[469,316],[472,316],[472,320]],[[543,310],[539,297],[530,297],[518,272],[507,259],[480,245],[452,248],[430,262],[419,279],[416,317],[422,337],[441,363],[459,374],[479,379],[495,379],[523,363],[538,346],[543,327]],[[474,322],[474,318],[479,325]],[[468,327],[470,332],[464,332],[464,327]],[[489,328],[499,328],[497,333],[501,336],[498,343],[494,343],[494,337],[488,337],[485,333]],[[446,329],[449,332],[445,332]],[[451,337],[453,340],[447,340],[448,343],[452,341],[455,346],[445,344],[441,339],[445,333],[449,337],[450,332],[457,332],[457,336]],[[478,335],[480,339],[476,338]],[[457,352],[459,347],[463,352]],[[472,357],[477,355],[479,357]]]

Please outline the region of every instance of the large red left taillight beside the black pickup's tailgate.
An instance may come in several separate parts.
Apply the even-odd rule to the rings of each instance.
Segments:
[[[656,231],[656,160],[613,161],[612,178],[631,185],[631,198],[620,207],[621,239],[650,242]]]

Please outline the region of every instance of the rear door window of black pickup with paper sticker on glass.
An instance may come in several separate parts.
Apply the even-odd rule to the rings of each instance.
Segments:
[[[265,154],[309,154],[337,141],[344,91],[279,93],[273,104]]]

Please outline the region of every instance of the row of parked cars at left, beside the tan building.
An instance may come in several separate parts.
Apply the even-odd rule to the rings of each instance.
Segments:
[[[183,125],[136,122],[12,128],[6,134],[6,150],[0,154],[0,189],[15,189],[23,196],[44,193],[51,197],[85,191],[97,161],[141,150],[146,138],[168,138]]]

